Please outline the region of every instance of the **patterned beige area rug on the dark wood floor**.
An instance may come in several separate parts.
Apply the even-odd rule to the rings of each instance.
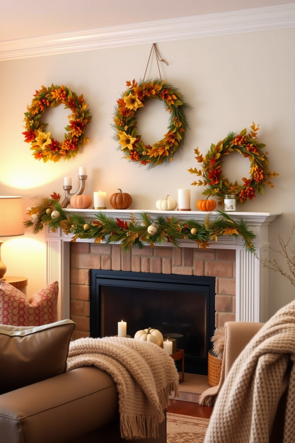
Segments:
[[[202,443],[209,419],[167,412],[167,443]]]

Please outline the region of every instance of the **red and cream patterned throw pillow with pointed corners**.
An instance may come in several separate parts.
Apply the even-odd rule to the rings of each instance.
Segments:
[[[27,299],[19,289],[0,280],[0,324],[42,326],[56,322],[57,295],[57,281]]]

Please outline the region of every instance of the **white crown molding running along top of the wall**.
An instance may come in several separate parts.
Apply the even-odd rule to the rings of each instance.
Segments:
[[[295,27],[295,3],[0,42],[0,61]]]

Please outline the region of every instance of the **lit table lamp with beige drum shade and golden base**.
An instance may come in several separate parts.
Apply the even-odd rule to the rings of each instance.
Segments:
[[[24,235],[22,197],[0,196],[0,237]],[[3,241],[0,241],[0,249]],[[1,260],[0,279],[5,280],[6,266]]]

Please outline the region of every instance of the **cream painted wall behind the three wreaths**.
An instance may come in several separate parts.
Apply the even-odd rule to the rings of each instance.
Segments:
[[[240,206],[244,211],[279,211],[269,227],[272,247],[276,235],[287,236],[295,221],[294,206],[294,102],[295,102],[295,29],[253,32],[239,35],[191,39],[158,44],[169,66],[161,66],[162,78],[180,89],[193,109],[187,112],[191,130],[182,152],[169,167],[146,171],[122,159],[112,140],[112,112],[126,80],[142,78],[150,45],[112,48],[39,58],[1,62],[0,110],[0,194],[23,196],[24,208],[31,206],[36,194],[63,194],[63,177],[73,178],[78,186],[78,167],[86,166],[85,193],[105,190],[110,197],[117,188],[132,194],[130,209],[152,209],[158,198],[169,194],[177,199],[177,189],[190,187],[192,208],[201,197],[202,188],[190,185],[194,176],[189,167],[198,166],[193,149],[199,146],[206,154],[211,143],[229,131],[259,123],[259,139],[267,144],[270,169],[280,176],[275,189],[265,187],[264,196]],[[161,64],[163,65],[163,64]],[[158,75],[153,60],[148,76]],[[31,103],[35,89],[51,83],[65,84],[83,93],[92,113],[87,135],[91,143],[69,162],[41,163],[33,159],[23,141],[23,113]],[[151,108],[151,109],[149,109]],[[58,107],[46,115],[48,130],[54,138],[63,138],[67,111]],[[146,106],[138,119],[146,143],[161,138],[167,116],[157,102]],[[230,179],[249,174],[249,161],[231,155],[224,163]],[[111,207],[108,203],[108,207]],[[25,210],[24,210],[25,214]],[[1,248],[9,275],[29,279],[28,294],[45,282],[43,234],[6,241]],[[294,298],[295,289],[279,274],[269,276],[269,313]]]

